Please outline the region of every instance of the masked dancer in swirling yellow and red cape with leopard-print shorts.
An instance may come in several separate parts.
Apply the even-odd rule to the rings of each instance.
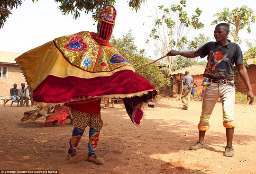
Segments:
[[[103,126],[101,98],[122,98],[131,121],[140,125],[141,108],[156,95],[155,87],[108,42],[115,18],[116,9],[109,5],[101,12],[97,33],[63,36],[17,58],[37,104],[71,108],[74,129],[68,158],[77,156],[76,148],[89,125],[88,160],[104,163],[95,154]]]

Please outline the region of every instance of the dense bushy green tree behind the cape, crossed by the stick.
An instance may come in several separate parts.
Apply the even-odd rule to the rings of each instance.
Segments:
[[[133,65],[135,70],[152,61],[145,56],[144,49],[137,49],[135,38],[131,35],[131,30],[125,34],[123,38],[115,39],[114,36],[112,36],[110,43]],[[137,73],[146,78],[155,87],[162,87],[166,84],[164,74],[155,63],[138,70]]]

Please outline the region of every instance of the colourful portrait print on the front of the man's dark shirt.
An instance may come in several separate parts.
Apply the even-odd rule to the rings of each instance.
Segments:
[[[204,74],[214,76],[216,78],[224,78],[225,72],[229,65],[229,58],[227,53],[223,53],[220,51],[210,52],[207,67],[205,69]]]

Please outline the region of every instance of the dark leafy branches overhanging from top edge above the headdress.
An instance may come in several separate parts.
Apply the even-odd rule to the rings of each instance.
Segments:
[[[35,2],[35,0],[32,1]],[[85,14],[93,12],[92,17],[97,20],[102,7],[114,4],[116,0],[55,0],[55,2],[64,15],[71,13],[76,19],[80,17],[81,11],[84,11]],[[145,3],[145,0],[130,0],[128,5],[137,12],[142,3]],[[21,4],[22,0],[0,0],[0,28],[4,26],[4,22],[11,14],[10,10],[14,7],[17,8]]]

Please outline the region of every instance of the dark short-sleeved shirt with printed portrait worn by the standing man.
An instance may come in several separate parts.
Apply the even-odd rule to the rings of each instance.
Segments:
[[[201,58],[207,56],[207,65],[203,74],[206,78],[234,78],[235,65],[244,64],[243,54],[238,44],[231,43],[218,48],[217,42],[209,42],[204,44],[197,51]]]

